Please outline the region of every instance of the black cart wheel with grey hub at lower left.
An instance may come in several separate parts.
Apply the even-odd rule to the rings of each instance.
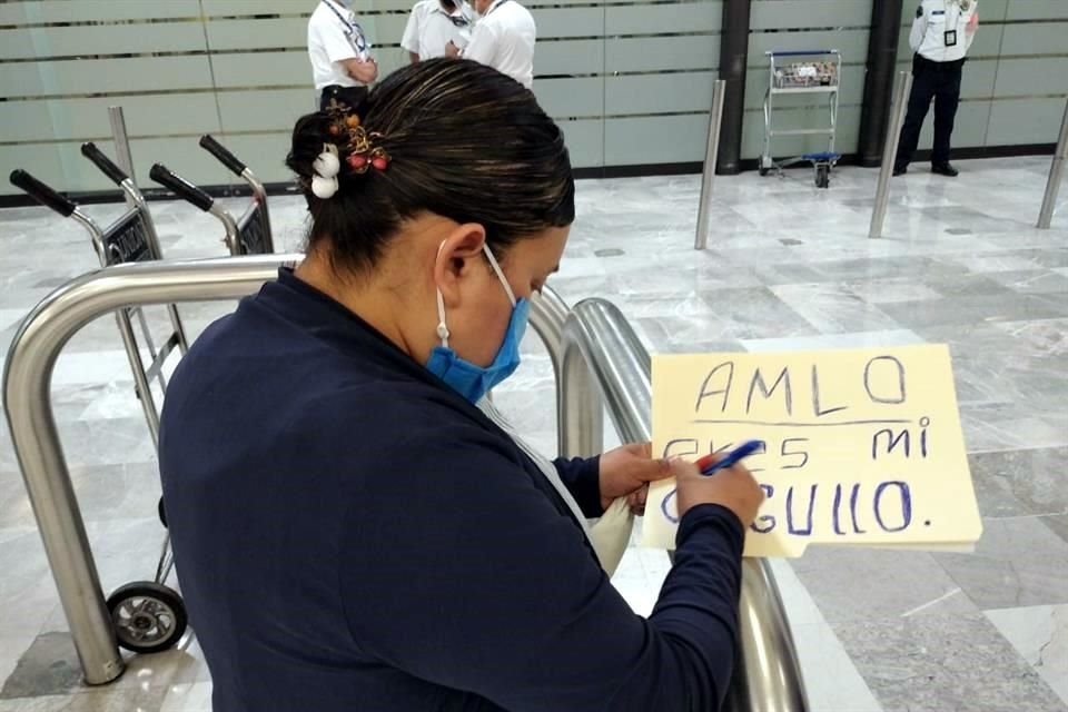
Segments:
[[[108,612],[119,646],[134,653],[158,653],[172,647],[189,624],[186,604],[160,583],[128,583],[108,596]]]

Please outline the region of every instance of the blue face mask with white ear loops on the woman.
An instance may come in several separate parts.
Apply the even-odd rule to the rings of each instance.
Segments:
[[[437,335],[442,339],[442,345],[436,346],[426,362],[426,368],[432,374],[444,380],[448,386],[464,396],[472,403],[477,403],[491,388],[515,373],[520,365],[520,342],[523,340],[523,333],[526,330],[526,317],[531,308],[527,299],[516,300],[508,286],[501,266],[493,257],[490,248],[483,245],[486,253],[486,259],[490,266],[496,273],[497,279],[504,287],[508,300],[512,303],[512,318],[508,319],[508,328],[504,333],[504,342],[497,349],[493,363],[488,366],[476,366],[469,360],[461,358],[456,352],[448,346],[448,327],[445,326],[445,301],[442,298],[442,290],[437,290]]]

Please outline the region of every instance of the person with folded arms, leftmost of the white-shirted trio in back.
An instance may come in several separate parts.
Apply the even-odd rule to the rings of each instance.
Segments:
[[[367,96],[367,85],[378,78],[370,42],[356,22],[353,0],[319,0],[308,20],[308,58],[319,109],[337,100],[357,107]]]

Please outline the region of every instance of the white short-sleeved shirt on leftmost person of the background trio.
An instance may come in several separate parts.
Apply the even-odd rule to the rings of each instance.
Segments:
[[[363,86],[338,63],[346,59],[370,59],[370,42],[352,10],[332,0],[319,1],[308,20],[308,59],[316,89],[330,85]]]

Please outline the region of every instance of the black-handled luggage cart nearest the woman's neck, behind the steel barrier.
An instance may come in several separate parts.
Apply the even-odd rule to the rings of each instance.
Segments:
[[[240,218],[227,212],[216,205],[215,198],[186,180],[162,164],[156,164],[149,171],[149,177],[182,198],[187,202],[210,212],[222,224],[224,241],[230,255],[269,255],[275,251],[274,238],[270,233],[270,218],[267,214],[267,192],[256,178],[255,174],[239,161],[234,154],[226,150],[211,136],[200,138],[200,146],[219,159],[227,168],[244,178],[253,189],[253,199]]]

